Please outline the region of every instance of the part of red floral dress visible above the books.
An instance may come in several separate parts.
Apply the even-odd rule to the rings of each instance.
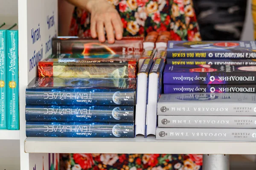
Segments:
[[[172,40],[201,41],[192,0],[108,0],[122,18],[123,36],[170,31]],[[90,37],[90,14],[75,8],[70,36]]]

